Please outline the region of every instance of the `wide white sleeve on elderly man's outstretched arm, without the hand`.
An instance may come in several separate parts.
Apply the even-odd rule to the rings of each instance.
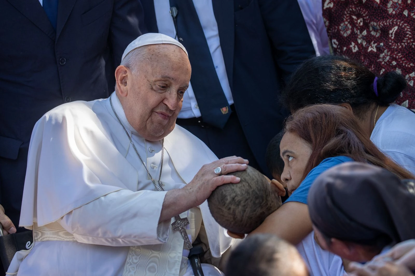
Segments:
[[[120,190],[93,200],[59,219],[78,242],[154,245],[167,241],[170,222],[159,223],[166,192]]]

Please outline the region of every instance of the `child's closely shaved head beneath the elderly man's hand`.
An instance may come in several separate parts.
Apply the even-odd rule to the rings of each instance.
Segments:
[[[281,206],[271,185],[258,170],[231,173],[241,181],[217,187],[207,199],[210,213],[223,228],[240,234],[251,233]]]

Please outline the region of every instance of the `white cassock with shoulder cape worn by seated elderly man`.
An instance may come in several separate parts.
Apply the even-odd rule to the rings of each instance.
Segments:
[[[137,134],[115,93],[112,103],[157,181],[161,141],[149,142]],[[161,180],[166,191],[183,187],[203,164],[217,160],[178,125],[164,140]],[[34,230],[34,245],[17,252],[8,273],[191,274],[189,251],[181,234],[171,229],[174,218],[159,223],[165,195],[149,180],[109,98],[58,106],[32,133],[20,226]],[[207,202],[181,214],[186,216],[192,242],[199,232],[207,236],[212,257],[229,248],[232,239],[214,221]]]

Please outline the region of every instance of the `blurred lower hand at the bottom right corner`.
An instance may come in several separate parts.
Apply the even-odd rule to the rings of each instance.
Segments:
[[[364,265],[353,262],[349,269],[351,276],[414,276],[406,266],[389,261],[372,261]]]

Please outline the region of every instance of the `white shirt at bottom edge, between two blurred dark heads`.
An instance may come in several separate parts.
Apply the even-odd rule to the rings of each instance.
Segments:
[[[347,276],[342,258],[323,250],[314,240],[314,231],[297,245],[297,250],[307,264],[310,276]]]

